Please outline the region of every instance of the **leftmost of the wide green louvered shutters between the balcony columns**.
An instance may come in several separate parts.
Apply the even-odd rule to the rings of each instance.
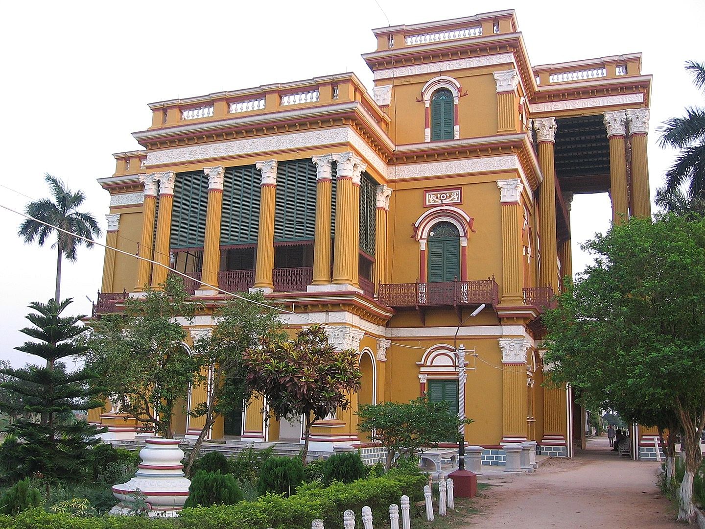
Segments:
[[[171,207],[169,248],[202,248],[206,233],[208,176],[203,171],[177,173]]]

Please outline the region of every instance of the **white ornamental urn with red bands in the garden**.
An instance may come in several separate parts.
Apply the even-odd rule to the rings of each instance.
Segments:
[[[120,503],[111,509],[112,514],[135,514],[147,508],[150,518],[178,516],[188,498],[191,480],[184,477],[183,450],[177,439],[155,437],[146,440],[140,450],[140,463],[135,477],[126,483],[113,486],[114,496]]]

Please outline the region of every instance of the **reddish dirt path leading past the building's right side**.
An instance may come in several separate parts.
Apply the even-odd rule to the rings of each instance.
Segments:
[[[670,529],[670,502],[656,487],[658,463],[630,461],[609,451],[606,437],[575,459],[552,458],[537,473],[492,480],[465,528]]]

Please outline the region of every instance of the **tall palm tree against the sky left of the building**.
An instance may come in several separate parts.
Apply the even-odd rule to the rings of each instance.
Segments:
[[[36,239],[39,246],[43,246],[47,237],[56,231],[56,242],[51,245],[51,248],[57,250],[54,300],[59,303],[61,299],[59,298],[61,257],[65,256],[69,261],[75,261],[78,245],[85,244],[86,248],[92,248],[93,237],[99,237],[101,232],[92,214],[76,211],[85,200],[82,191],[73,193],[59,178],[54,178],[50,174],[44,176],[44,181],[49,184],[54,200],[42,198],[42,200],[27,204],[25,214],[32,218],[20,224],[18,235],[25,239],[25,243],[33,243]],[[76,238],[56,228],[73,233],[75,236],[85,237],[88,240]]]

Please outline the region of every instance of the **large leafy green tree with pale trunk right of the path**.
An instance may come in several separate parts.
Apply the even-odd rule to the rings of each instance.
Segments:
[[[583,249],[594,265],[544,314],[551,379],[625,420],[678,422],[688,520],[705,425],[705,219],[631,219]]]

